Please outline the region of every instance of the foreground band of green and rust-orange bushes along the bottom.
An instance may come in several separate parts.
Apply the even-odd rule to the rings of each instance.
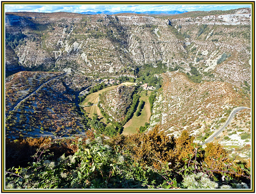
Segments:
[[[105,138],[90,129],[84,138],[70,140],[72,153],[58,156],[54,151],[64,144],[41,140],[32,163],[6,170],[6,190],[250,188],[250,165],[232,161],[220,144],[202,148],[186,131],[174,138],[156,126],[148,133]]]

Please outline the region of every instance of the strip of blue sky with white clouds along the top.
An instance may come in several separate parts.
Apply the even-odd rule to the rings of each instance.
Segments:
[[[210,11],[210,10],[231,10],[237,8],[250,8],[248,4],[76,4],[76,5],[61,5],[61,4],[5,4],[5,12],[100,12],[100,11]]]

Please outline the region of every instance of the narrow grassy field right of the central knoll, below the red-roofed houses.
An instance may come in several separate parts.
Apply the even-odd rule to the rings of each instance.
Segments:
[[[146,93],[148,92],[148,95],[146,96]],[[150,96],[150,91],[142,91],[140,102],[143,100],[145,102],[144,108],[140,112],[140,116],[136,116],[136,112],[134,113],[134,116],[124,125],[124,130],[122,134],[128,135],[132,133],[136,133],[136,128],[140,128],[140,126],[144,126],[146,122],[149,122],[150,119],[150,104],[148,101],[148,96]],[[139,102],[139,103],[140,103]],[[137,107],[138,110],[138,107]],[[136,111],[137,111],[136,110]]]

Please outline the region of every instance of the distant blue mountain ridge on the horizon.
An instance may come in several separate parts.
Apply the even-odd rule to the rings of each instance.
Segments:
[[[123,13],[130,13],[130,14],[183,14],[188,11],[168,11],[168,12],[162,12],[162,11],[148,11],[148,12],[134,12],[134,11],[121,11],[121,12],[110,12],[110,11],[103,11],[103,12],[80,12],[79,14],[90,14],[90,15],[96,15],[96,14],[108,14],[108,15],[113,15],[113,14],[123,14]]]

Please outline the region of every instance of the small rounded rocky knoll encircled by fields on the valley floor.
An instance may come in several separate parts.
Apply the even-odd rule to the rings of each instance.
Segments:
[[[100,96],[100,107],[111,116],[114,121],[121,122],[132,104],[134,86],[118,86],[113,90],[104,92]]]

